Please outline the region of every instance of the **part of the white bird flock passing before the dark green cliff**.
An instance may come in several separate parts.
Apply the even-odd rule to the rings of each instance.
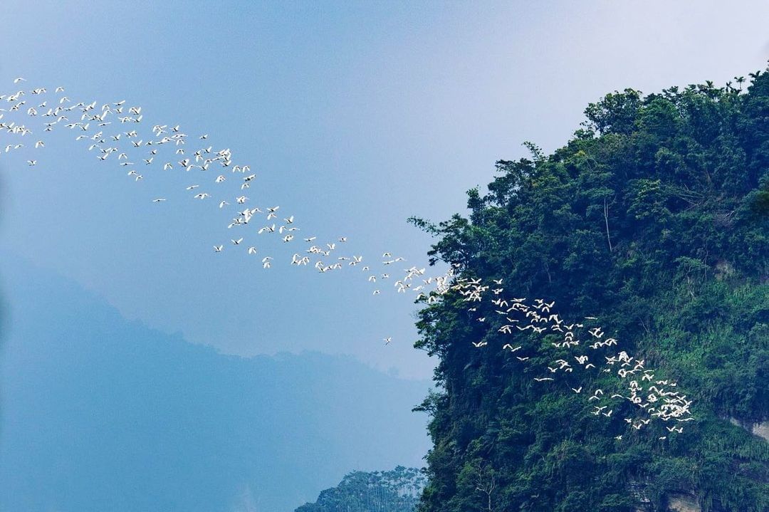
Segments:
[[[631,404],[646,416],[638,421],[633,417],[624,417],[628,427],[636,431],[650,424],[652,419],[657,419],[672,424],[666,426],[668,433],[680,434],[684,431],[683,423],[694,421],[691,416],[692,401],[675,389],[676,382],[657,377],[654,370],[646,367],[644,360],[632,357],[627,351],[608,353],[607,349],[616,347],[618,340],[608,336],[600,326],[586,325],[594,323],[597,318],[587,317],[584,322],[567,323],[553,312],[554,301],[505,298],[501,284],[501,279],[484,284],[481,279],[469,278],[457,278],[451,284],[451,290],[458,292],[462,300],[469,303],[468,321],[489,325],[484,338],[472,342],[474,347],[498,344],[503,351],[514,354],[512,359],[520,364],[532,364],[527,361],[536,358],[538,367],[534,370],[547,371],[532,378],[537,383],[552,382],[558,376],[565,378],[575,371],[581,377],[586,376],[587,371],[616,374],[619,382],[627,387],[609,396],[604,396],[602,389],[594,390],[588,397],[589,403],[597,402],[593,405],[592,414],[610,418],[614,411],[621,410],[623,404]],[[501,339],[498,334],[503,335]],[[522,334],[547,337],[552,349],[543,354],[538,337]],[[557,337],[552,337],[553,334]],[[508,341],[507,337],[515,337],[516,340]],[[546,357],[553,359],[543,364]],[[583,386],[566,385],[575,394],[583,392]],[[667,435],[660,439],[667,439]]]

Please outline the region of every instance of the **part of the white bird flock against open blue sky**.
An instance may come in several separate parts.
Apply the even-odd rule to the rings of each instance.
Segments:
[[[14,83],[22,81],[25,79],[20,77],[16,78]],[[122,100],[99,107],[96,101],[72,101],[64,92],[63,87],[55,88],[56,96],[53,99],[45,99],[48,98],[48,89],[44,87],[0,95],[0,101],[5,100],[8,104],[8,108],[0,108],[0,130],[22,138],[32,135],[32,129],[26,125],[28,121],[3,119],[5,113],[20,112],[23,115],[25,112],[27,118],[42,118],[44,132],[54,131],[56,128],[75,131],[78,134],[75,141],[87,143],[88,151],[93,151],[98,161],[114,161],[116,165],[124,168],[127,177],[132,181],[146,181],[146,178],[151,176],[149,173],[158,168],[162,171],[180,169],[185,173],[195,172],[188,175],[192,183],[185,186],[185,191],[192,199],[198,201],[215,198],[213,202],[218,204],[220,210],[229,207],[231,221],[228,228],[243,229],[248,228],[249,224],[258,224],[256,235],[278,234],[283,244],[295,244],[299,240],[298,231],[301,231],[301,228],[295,224],[293,214],[282,214],[280,205],[260,207],[251,204],[248,189],[255,183],[257,175],[251,171],[250,165],[236,164],[229,148],[215,149],[208,145],[208,142],[202,142],[197,148],[190,150],[188,145],[191,145],[195,138],[182,131],[179,125],[153,125],[151,135],[143,135],[139,129],[144,118],[140,106],[128,106],[125,100]],[[28,96],[35,96],[32,105],[27,100]],[[115,129],[118,125],[121,128]],[[207,140],[208,134],[199,135],[197,138],[197,141]],[[25,147],[27,146],[23,142],[7,145],[5,153]],[[36,141],[34,148],[45,148],[45,141]],[[30,159],[27,163],[31,167],[38,165],[38,159]],[[201,174],[214,168],[220,168],[222,174],[216,175],[215,178],[208,173]],[[230,172],[226,172],[227,170]],[[153,203],[166,201],[168,198],[165,197],[152,199]],[[261,218],[264,221],[259,222]],[[337,254],[338,246],[341,248],[341,244],[348,240],[347,237],[341,236],[328,243],[317,243],[316,238],[303,238],[308,247],[305,248],[304,254],[293,254],[292,265],[311,265],[319,272],[340,270],[345,264],[351,267],[360,265],[359,268],[364,272],[371,270],[371,265],[362,264],[363,257],[360,255]],[[232,245],[242,246],[249,256],[261,253],[254,243],[256,240],[257,237],[250,232],[246,236],[238,234],[230,238]],[[213,250],[217,253],[224,252],[228,245],[214,244]],[[384,258],[388,258],[382,262],[384,265],[404,261],[404,258],[391,258],[390,253],[384,254],[387,255]],[[261,265],[263,268],[271,268],[273,261],[274,258],[265,255],[261,258]],[[387,273],[370,274],[367,275],[370,282],[389,278]],[[403,286],[399,289],[404,291]],[[378,293],[380,292],[373,292]]]

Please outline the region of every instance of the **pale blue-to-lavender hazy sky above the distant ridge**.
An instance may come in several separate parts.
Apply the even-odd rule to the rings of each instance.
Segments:
[[[259,204],[294,214],[302,236],[346,236],[352,253],[392,251],[406,266],[424,266],[430,244],[409,216],[463,211],[494,161],[526,156],[523,141],[563,145],[589,102],[723,84],[769,58],[767,2],[10,0],[3,11],[0,94],[23,76],[141,105],[145,127],[231,148],[258,174]],[[7,251],[128,320],[226,354],[321,351],[431,375],[411,347],[410,300],[384,285],[372,297],[360,273],[215,254],[227,219],[183,193],[188,176],[135,183],[72,138],[52,135],[35,168],[29,153],[0,155]]]

